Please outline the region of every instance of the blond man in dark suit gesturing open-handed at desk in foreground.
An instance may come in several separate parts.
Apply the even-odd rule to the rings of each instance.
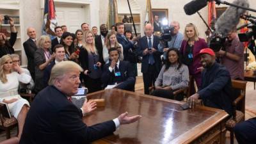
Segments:
[[[37,94],[29,109],[20,144],[23,143],[90,143],[112,134],[122,124],[130,124],[140,115],[127,116],[127,112],[114,120],[87,126],[83,116],[95,109],[93,102],[84,102],[78,109],[70,96],[77,93],[80,72],[77,63],[63,61],[51,70],[49,86]]]

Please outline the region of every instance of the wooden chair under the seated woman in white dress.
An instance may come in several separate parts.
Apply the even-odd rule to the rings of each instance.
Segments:
[[[11,138],[11,129],[18,125],[17,119],[12,116],[12,118],[6,118],[2,113],[3,104],[0,103],[0,129],[6,132],[6,139]],[[19,132],[19,129],[18,131]]]

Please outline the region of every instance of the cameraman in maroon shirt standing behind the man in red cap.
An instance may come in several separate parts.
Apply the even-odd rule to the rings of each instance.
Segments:
[[[228,33],[224,47],[216,52],[216,56],[227,67],[232,79],[244,79],[244,46],[239,41],[236,29]]]

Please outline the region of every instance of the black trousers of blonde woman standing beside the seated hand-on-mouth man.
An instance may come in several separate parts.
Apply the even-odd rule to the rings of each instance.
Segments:
[[[84,86],[88,88],[88,93],[97,92],[102,90],[101,79],[92,79],[91,77],[84,76]]]

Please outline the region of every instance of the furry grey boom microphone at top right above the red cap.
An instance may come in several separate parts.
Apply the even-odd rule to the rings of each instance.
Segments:
[[[248,0],[235,0],[232,4],[236,4],[237,6],[243,6],[246,8],[249,7]],[[227,10],[222,13],[222,15],[215,24],[216,33],[227,36],[230,31],[236,28],[237,24],[239,23],[240,16],[244,12],[246,12],[246,10],[242,8],[229,6]]]

